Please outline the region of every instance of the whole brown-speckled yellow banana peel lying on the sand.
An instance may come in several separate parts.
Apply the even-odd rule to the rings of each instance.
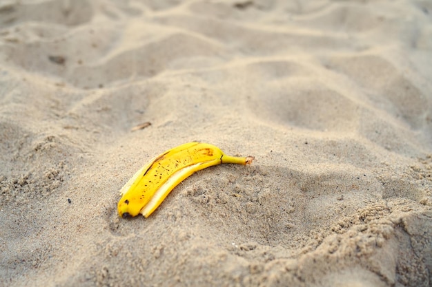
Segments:
[[[139,169],[120,190],[119,215],[126,218],[141,213],[148,217],[177,184],[195,171],[222,163],[251,164],[253,160],[253,156],[227,156],[218,147],[203,142],[169,149]]]

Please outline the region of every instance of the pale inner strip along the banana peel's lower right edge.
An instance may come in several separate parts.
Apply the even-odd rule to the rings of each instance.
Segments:
[[[190,165],[189,167],[184,167],[183,169],[180,169],[176,173],[173,173],[173,175],[170,176],[170,178],[168,178],[168,180],[164,184],[162,184],[161,187],[159,187],[159,189],[157,189],[156,193],[150,199],[148,204],[146,204],[146,206],[144,206],[143,209],[139,211],[139,213],[147,217],[149,213],[151,213],[157,208],[157,202],[159,202],[159,200],[164,200],[164,198],[166,198],[166,195],[168,195],[168,193],[177,186],[178,183],[175,186],[173,186],[173,184],[175,184],[175,182],[179,180],[179,178],[186,176],[186,174],[188,173],[190,174],[194,173],[195,171],[198,170],[197,167],[204,163],[206,162],[199,162],[197,164]]]

